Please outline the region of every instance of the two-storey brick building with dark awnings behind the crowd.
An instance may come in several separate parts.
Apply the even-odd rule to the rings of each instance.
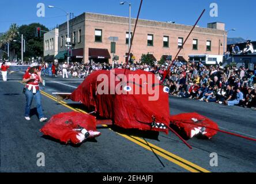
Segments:
[[[111,41],[108,37],[118,37],[115,55],[119,56],[119,63],[125,61],[125,55],[128,52],[129,18],[83,13],[72,18],[69,23],[72,44],[71,60],[88,62],[92,59],[112,63]],[[134,25],[135,19],[132,18],[132,34]],[[66,22],[59,25],[59,53],[66,53],[66,43],[63,41],[67,37],[66,26]],[[191,54],[222,55],[224,33],[226,33],[225,24],[213,22],[208,24],[208,27],[197,26],[179,56],[187,60]],[[140,60],[142,53],[150,53],[156,60],[160,60],[163,55],[174,57],[191,28],[192,26],[188,25],[139,19],[131,53],[136,61]]]

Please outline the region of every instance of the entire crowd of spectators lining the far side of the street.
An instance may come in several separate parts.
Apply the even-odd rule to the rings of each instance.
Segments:
[[[129,70],[145,70],[153,72],[161,80],[170,61],[164,65],[158,63],[148,64],[133,63],[127,65]],[[62,64],[48,64],[46,67],[55,67],[55,74],[62,75]],[[115,64],[115,68],[125,68],[125,64]],[[70,62],[67,74],[70,78],[86,78],[96,70],[111,70],[108,63]],[[198,99],[205,102],[216,102],[224,105],[239,105],[256,108],[256,82],[255,71],[250,71],[244,66],[205,66],[201,62],[180,62],[176,60],[170,74],[164,79],[164,85],[170,88],[170,94],[182,98]],[[49,72],[54,76],[53,72]]]

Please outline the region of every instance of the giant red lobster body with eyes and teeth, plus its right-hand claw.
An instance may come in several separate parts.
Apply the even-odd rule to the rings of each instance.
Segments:
[[[217,133],[216,131],[210,131],[204,126],[201,126],[201,131],[195,129],[199,126],[195,121],[191,120],[191,118],[194,120],[199,119],[200,125],[207,125],[209,128],[217,128],[216,123],[199,114],[187,113],[170,116],[168,90],[160,85],[157,78],[153,77],[152,80],[149,80],[150,75],[153,75],[150,72],[142,70],[126,71],[125,76],[127,79],[129,79],[129,74],[137,74],[138,78],[142,75],[146,76],[146,81],[140,80],[138,83],[135,79],[132,81],[128,80],[126,84],[123,85],[123,89],[121,90],[125,90],[125,87],[129,86],[130,90],[133,91],[133,94],[130,94],[131,91],[127,92],[127,94],[116,94],[116,92],[115,94],[99,94],[99,91],[97,91],[97,86],[99,85],[107,83],[106,86],[108,87],[107,91],[109,93],[111,90],[115,91],[113,88],[119,85],[120,80],[115,81],[115,85],[109,85],[111,81],[111,72],[112,76],[114,75],[116,78],[118,78],[118,74],[124,74],[123,69],[95,71],[89,75],[75,91],[73,91],[69,98],[73,101],[81,102],[87,108],[97,112],[99,116],[113,120],[115,125],[122,128],[136,128],[144,131],[152,130],[168,133],[167,128],[171,122],[180,130],[185,131],[188,137],[202,134],[210,138]],[[106,75],[107,78],[99,80],[101,74]],[[153,96],[149,93],[134,94],[134,88],[136,86],[140,86],[140,90],[150,86],[155,86],[153,89],[159,87],[159,98],[156,101],[149,101],[149,97]],[[106,90],[104,87],[102,89]],[[187,122],[194,123],[195,125]]]

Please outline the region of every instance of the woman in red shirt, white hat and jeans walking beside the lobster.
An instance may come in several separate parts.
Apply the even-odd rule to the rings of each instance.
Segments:
[[[41,72],[39,71],[39,66],[32,64],[28,72],[23,76],[23,83],[26,83],[25,95],[26,95],[26,106],[25,106],[25,119],[30,120],[29,113],[33,97],[36,99],[36,109],[39,115],[39,121],[46,121],[47,118],[44,117],[42,102],[41,102],[41,93],[39,89],[39,82],[43,83],[43,79],[40,76]]]

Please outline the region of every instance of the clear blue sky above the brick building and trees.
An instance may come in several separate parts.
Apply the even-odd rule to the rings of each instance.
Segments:
[[[1,0],[0,32],[6,32],[10,24],[30,24],[39,22],[47,28],[66,21],[65,13],[59,9],[49,9],[47,5],[61,7],[74,13],[83,12],[129,16],[129,5],[119,5],[119,0]],[[140,0],[131,2],[131,17],[137,17]],[[37,3],[46,5],[45,17],[37,17]],[[218,17],[210,16],[210,4],[217,3]],[[243,37],[256,40],[256,1],[255,0],[144,0],[140,18],[156,21],[175,21],[177,24],[193,25],[203,9],[204,16],[199,26],[206,27],[209,22],[224,22],[225,29],[235,28],[228,37]]]

